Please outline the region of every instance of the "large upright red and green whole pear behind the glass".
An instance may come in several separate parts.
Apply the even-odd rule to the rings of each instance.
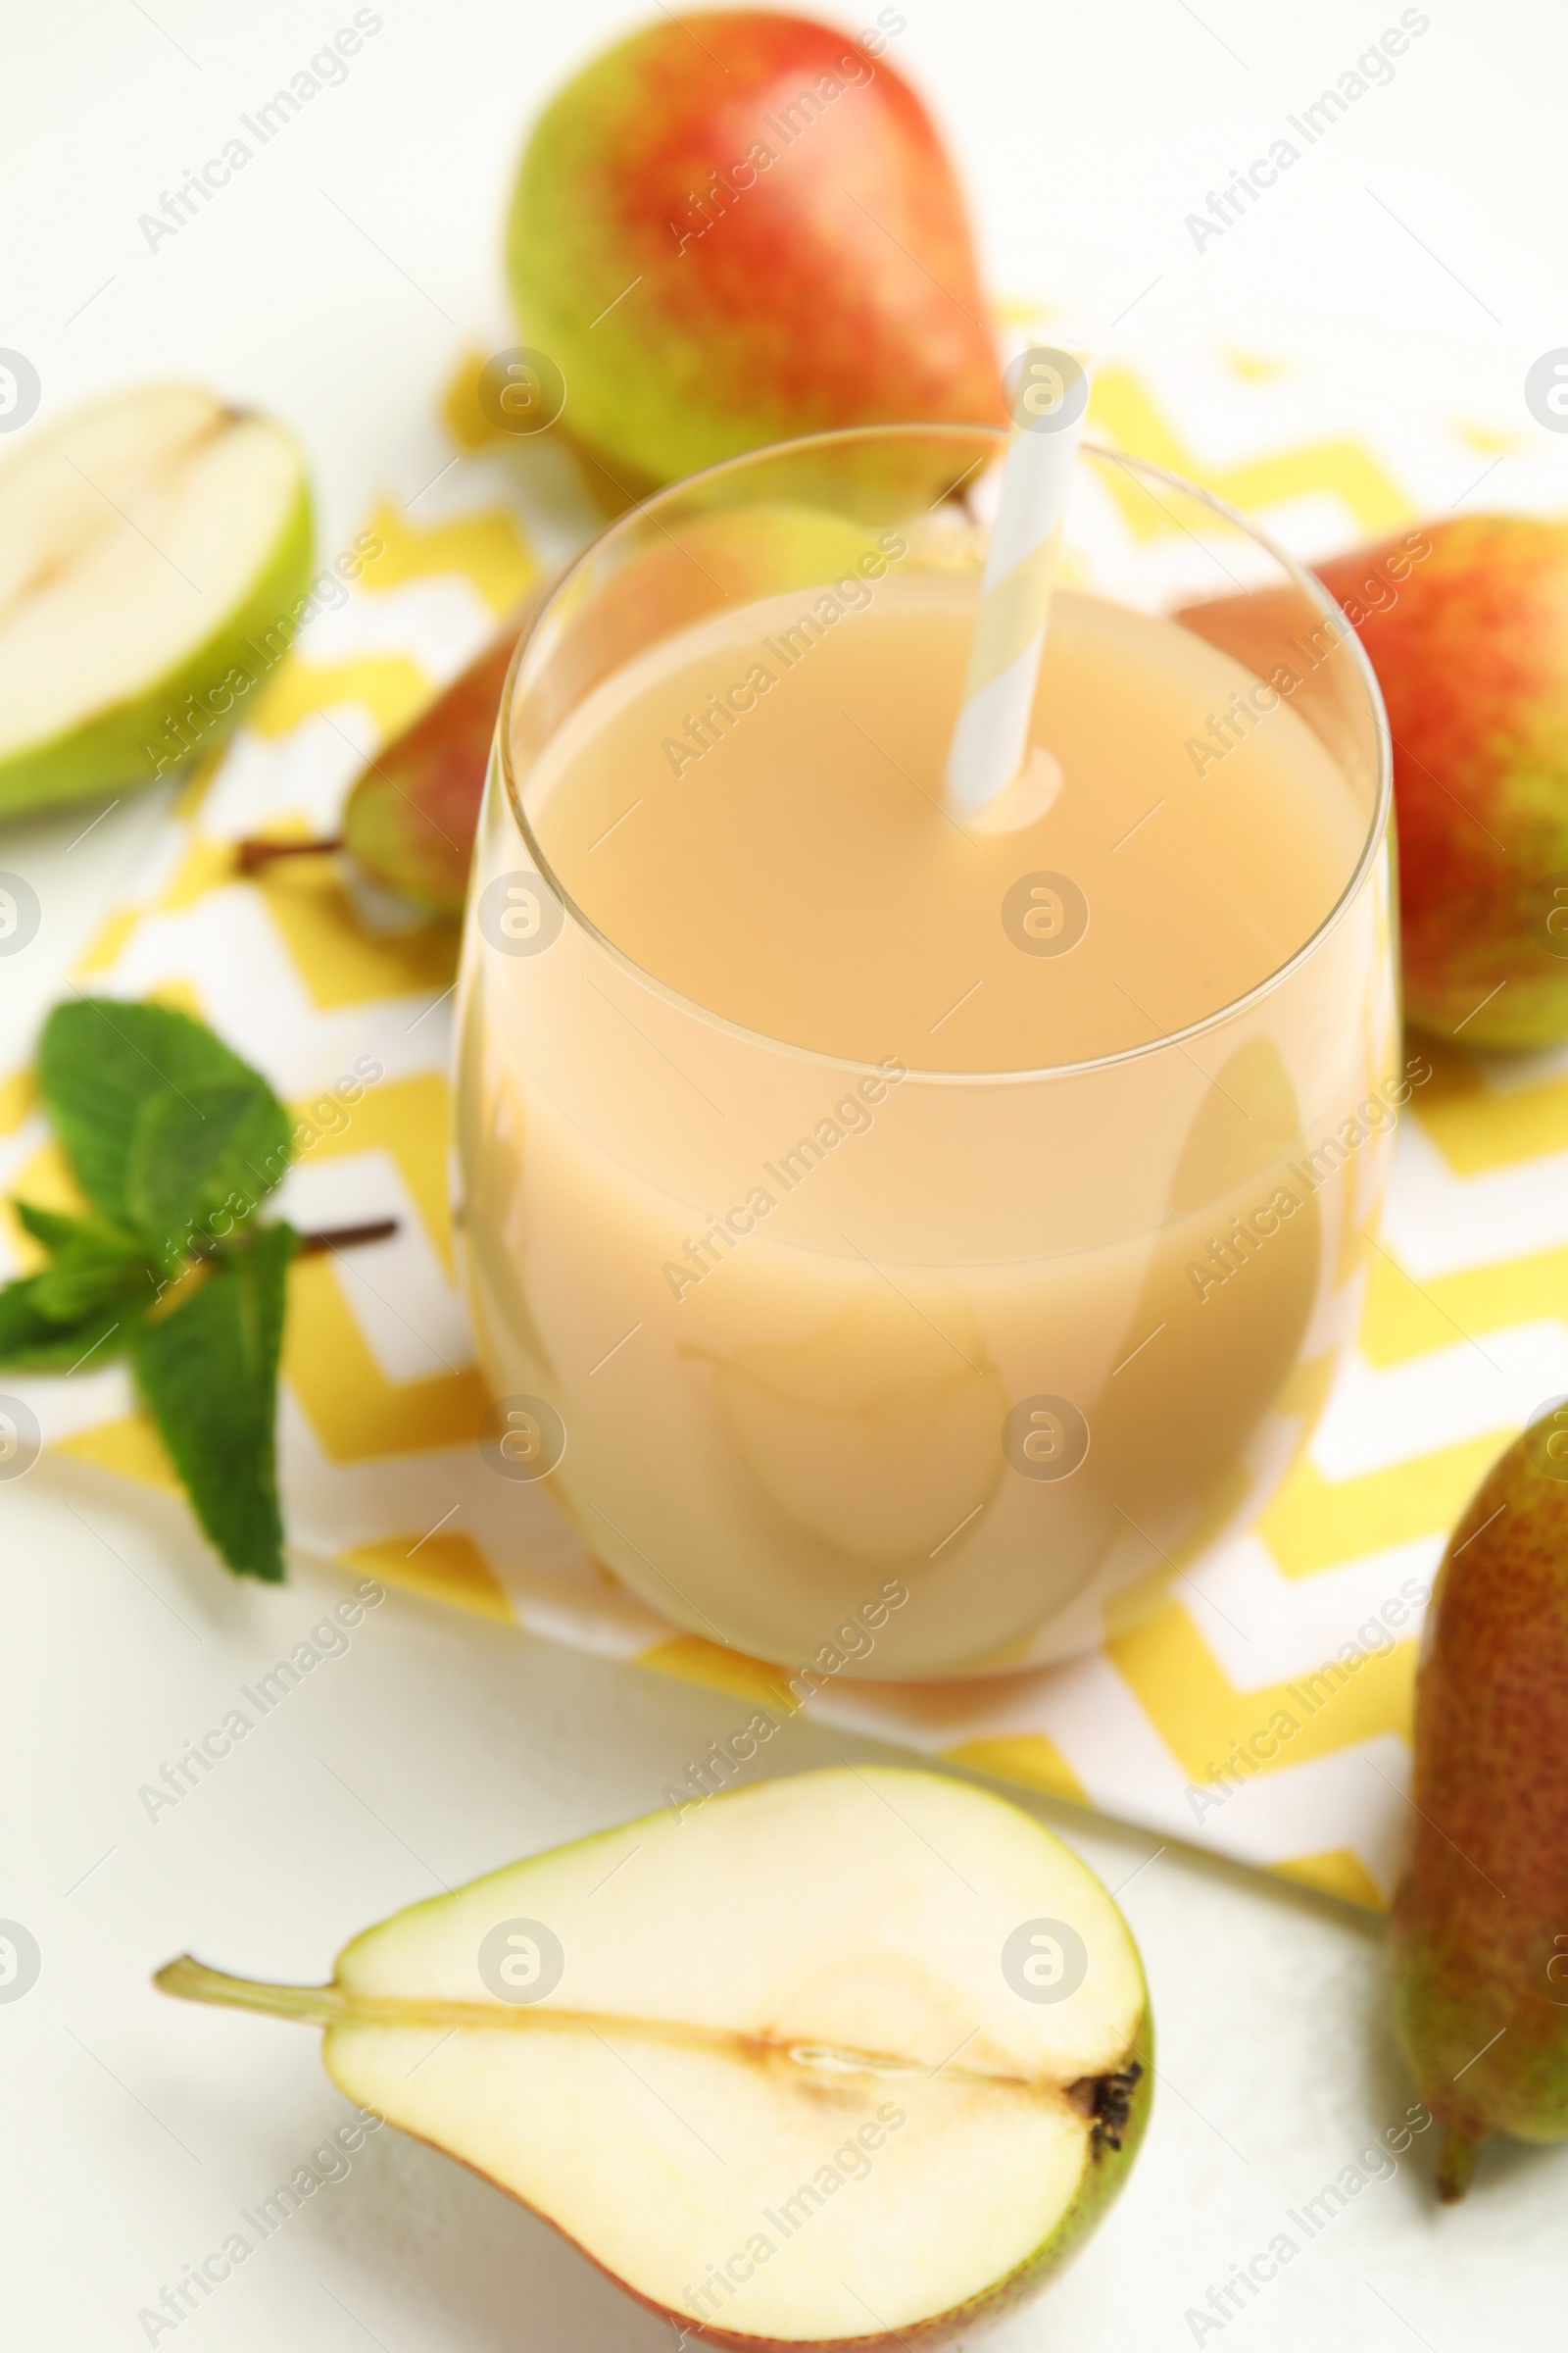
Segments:
[[[672,482],[835,426],[1004,421],[964,198],[903,28],[672,16],[545,108],[508,273],[611,473]]]

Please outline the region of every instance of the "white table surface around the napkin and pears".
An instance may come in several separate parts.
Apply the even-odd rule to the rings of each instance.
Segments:
[[[179,369],[275,407],[303,433],[322,544],[336,544],[458,332],[510,341],[496,224],[522,127],[637,14],[383,0],[346,85],[150,254],[136,214],[353,9],[9,0],[0,344],[40,369],[45,414]],[[1406,388],[1413,433],[1439,409],[1530,431],[1523,372],[1568,344],[1568,19],[1552,0],[1432,0],[1394,85],[1244,235],[1201,254],[1182,216],[1396,21],[1392,0],[910,0],[907,16],[893,56],[961,158],[994,287],[1110,320],[1157,280],[1145,341],[1335,353]],[[87,814],[0,828],[0,864],[45,908],[38,941],[0,965],[0,1066],[153,802],[68,849]],[[656,1807],[731,1729],[736,1704],[719,1694],[390,1595],[261,1737],[148,1821],[139,1786],[339,1591],[308,1574],[284,1591],[233,1584],[181,1513],[80,1466],[0,1487],[0,1915],[42,1948],[33,1991],[0,2005],[0,2339],[16,2353],[146,2344],[139,2311],[346,2113],[313,2033],[165,2002],[148,1991],[158,1962],[195,1948],[324,1977],[353,1929],[440,1882]],[[766,1765],[870,1753],[804,1722]],[[1505,2327],[1516,2346],[1561,2346],[1568,2155],[1493,2151],[1472,2200],[1439,2214],[1420,2141],[1255,2304],[1194,2327],[1208,2287],[1293,2228],[1286,2209],[1413,2099],[1380,1932],[1241,1871],[1152,1854],[1140,1833],[1039,1814],[1112,1887],[1131,1880],[1161,2085],[1119,2207],[992,2339],[999,2353],[1220,2334],[1227,2348],[1415,2339],[1458,2353]],[[195,2353],[672,2341],[543,2224],[393,2132],[169,2334]]]

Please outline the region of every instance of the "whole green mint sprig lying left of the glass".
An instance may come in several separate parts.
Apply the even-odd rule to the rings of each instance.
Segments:
[[[277,1358],[299,1235],[256,1209],[289,1165],[289,1115],[200,1021],[106,998],[49,1014],[38,1089],[92,1214],[16,1202],[49,1259],[0,1289],[0,1367],[125,1355],[214,1548],[280,1581]]]

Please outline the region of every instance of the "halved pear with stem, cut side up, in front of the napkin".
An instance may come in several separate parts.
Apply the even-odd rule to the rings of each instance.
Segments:
[[[719,2344],[933,2344],[1034,2287],[1145,2127],[1128,1927],[1067,1847],[931,1772],[668,1809],[416,1904],[329,1986],[167,1993],[327,2028],[360,2106]]]

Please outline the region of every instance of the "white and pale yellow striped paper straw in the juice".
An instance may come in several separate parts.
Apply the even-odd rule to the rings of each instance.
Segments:
[[[1013,360],[1001,391],[1013,435],[980,576],[964,701],[947,751],[947,807],[959,816],[978,816],[1006,793],[1030,741],[1056,546],[1088,407],[1088,372],[1070,351],[1034,344]]]

